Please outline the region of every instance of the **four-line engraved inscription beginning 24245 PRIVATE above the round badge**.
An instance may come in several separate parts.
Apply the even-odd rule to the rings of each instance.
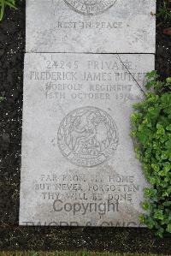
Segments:
[[[115,100],[129,104],[141,98],[139,92],[133,92],[134,80],[142,86],[146,83],[146,72],[135,72],[135,63],[127,58],[122,60],[123,63],[118,59],[102,61],[91,57],[82,61],[78,57],[66,61],[51,55],[44,61],[44,70],[31,70],[29,79],[41,81],[44,96],[60,103],[63,100],[89,100],[90,105],[93,105],[97,101]]]

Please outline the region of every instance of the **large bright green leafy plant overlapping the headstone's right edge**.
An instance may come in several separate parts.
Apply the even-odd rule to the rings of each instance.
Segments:
[[[131,121],[135,151],[151,185],[144,189],[147,213],[139,219],[162,237],[171,233],[171,78],[158,77],[156,71],[147,74],[148,92],[134,105]]]

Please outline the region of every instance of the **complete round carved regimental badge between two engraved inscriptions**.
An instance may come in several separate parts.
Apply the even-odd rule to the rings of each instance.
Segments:
[[[114,154],[118,145],[117,127],[106,111],[84,107],[63,118],[57,142],[63,156],[72,164],[94,167]]]

